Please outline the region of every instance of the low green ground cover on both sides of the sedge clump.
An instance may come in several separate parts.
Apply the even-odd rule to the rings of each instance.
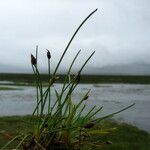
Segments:
[[[31,116],[0,117],[0,147],[13,136],[27,131],[32,131]],[[109,134],[102,134],[96,138],[99,140],[102,150],[150,150],[150,134],[139,130],[137,127],[118,123],[113,120],[101,122],[101,128],[116,128]],[[96,139],[96,140],[97,140]],[[111,141],[112,144],[106,144]],[[13,149],[16,143],[9,145],[7,149]],[[86,149],[86,148],[85,148]]]

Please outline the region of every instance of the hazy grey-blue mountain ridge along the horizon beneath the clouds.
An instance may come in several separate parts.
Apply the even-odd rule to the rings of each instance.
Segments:
[[[46,73],[45,68],[40,68],[42,73]],[[63,69],[60,70],[60,74],[66,72]],[[75,73],[74,71],[73,73]],[[0,64],[0,73],[32,73],[31,68],[25,68],[15,65]],[[127,65],[108,65],[103,67],[88,66],[83,70],[83,74],[95,74],[95,75],[150,75],[149,64],[127,64]]]

